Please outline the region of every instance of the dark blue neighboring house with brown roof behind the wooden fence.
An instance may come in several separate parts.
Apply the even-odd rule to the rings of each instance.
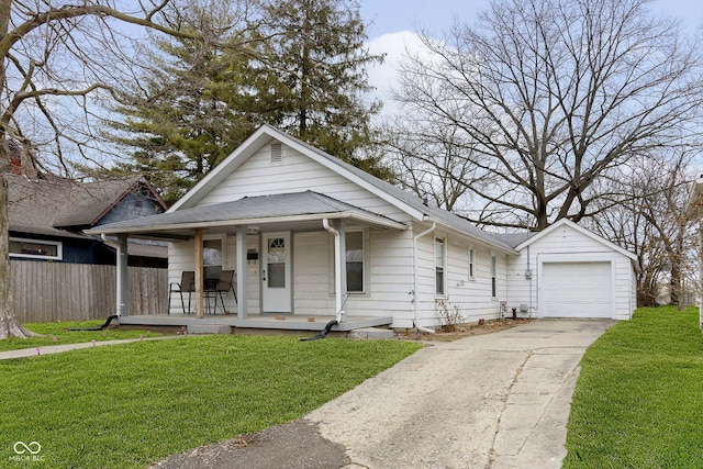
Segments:
[[[16,166],[7,175],[10,257],[69,264],[115,264],[115,243],[87,235],[88,228],[166,211],[141,176],[79,182],[51,175],[30,178]],[[130,265],[167,266],[167,248],[130,243]]]

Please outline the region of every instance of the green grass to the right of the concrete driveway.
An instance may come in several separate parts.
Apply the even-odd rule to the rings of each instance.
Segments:
[[[585,353],[565,468],[703,467],[698,309],[639,309]]]

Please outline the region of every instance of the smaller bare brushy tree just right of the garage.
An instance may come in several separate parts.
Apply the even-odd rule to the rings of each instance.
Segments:
[[[620,203],[612,204],[607,198],[596,201],[603,211],[590,219],[589,225],[637,255],[639,305],[654,305],[661,293],[668,293],[670,303],[683,306],[685,280],[694,278],[692,266],[696,257],[694,226],[683,213],[691,155],[679,152],[657,159],[633,159],[620,178],[610,180],[611,192],[621,196]],[[622,200],[625,194],[627,199]]]

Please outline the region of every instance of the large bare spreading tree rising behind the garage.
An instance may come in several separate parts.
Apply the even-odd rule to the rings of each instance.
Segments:
[[[475,168],[458,180],[481,209],[475,222],[542,230],[593,216],[600,179],[700,129],[703,48],[648,3],[495,1],[473,27],[422,35],[397,99],[422,133],[454,127],[446,144],[470,145],[451,153]],[[401,144],[414,150],[412,136]]]

